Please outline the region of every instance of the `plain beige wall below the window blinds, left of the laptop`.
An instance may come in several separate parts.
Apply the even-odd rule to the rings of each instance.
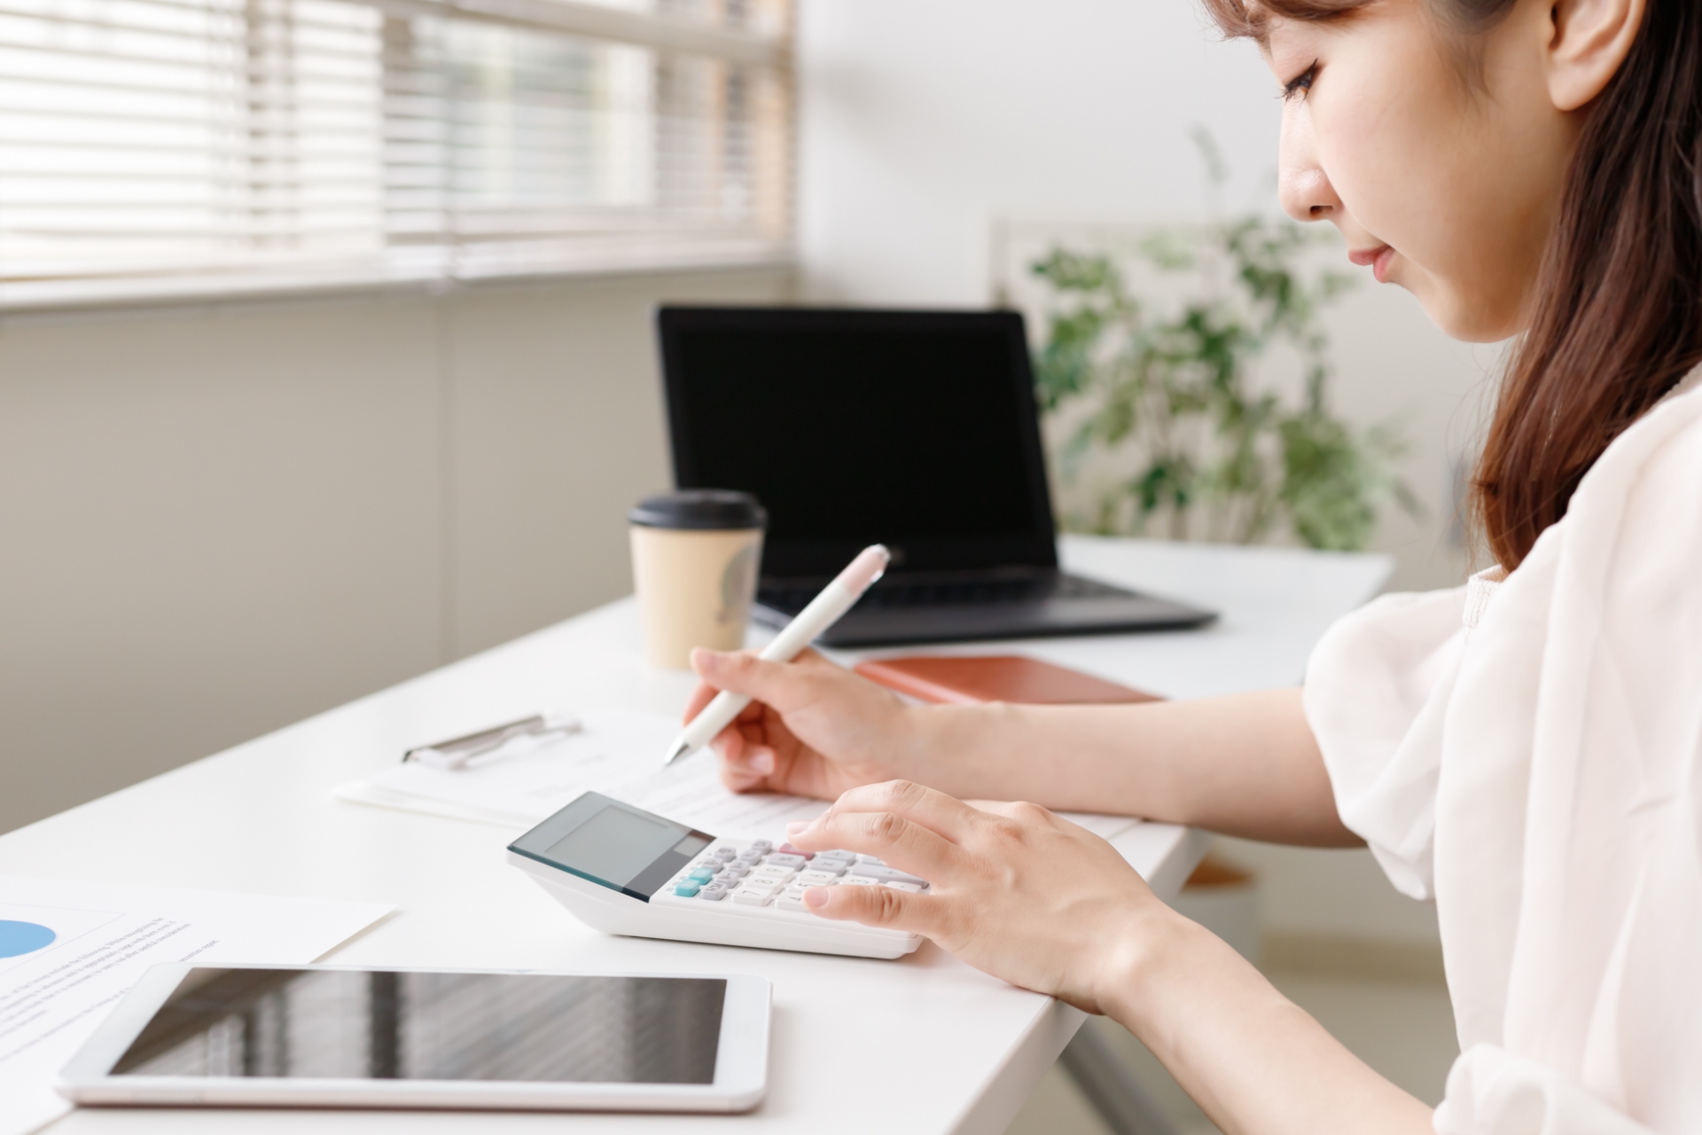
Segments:
[[[628,590],[749,269],[0,320],[0,830]]]

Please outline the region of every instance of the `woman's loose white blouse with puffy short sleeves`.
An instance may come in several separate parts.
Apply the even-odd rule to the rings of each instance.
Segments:
[[[1343,822],[1436,904],[1442,1135],[1702,1132],[1699,379],[1505,582],[1385,596],[1307,667]]]

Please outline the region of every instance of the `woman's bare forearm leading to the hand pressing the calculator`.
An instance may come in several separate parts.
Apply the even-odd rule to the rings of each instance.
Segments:
[[[1229,1135],[1433,1135],[1431,1109],[1367,1067],[1222,939],[1154,909],[1099,1007]]]

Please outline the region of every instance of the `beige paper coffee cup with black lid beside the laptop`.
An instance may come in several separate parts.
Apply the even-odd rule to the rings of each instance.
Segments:
[[[768,528],[756,497],[684,488],[643,499],[626,521],[650,664],[683,670],[693,647],[744,647]]]

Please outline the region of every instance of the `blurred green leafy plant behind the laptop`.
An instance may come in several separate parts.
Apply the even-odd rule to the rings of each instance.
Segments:
[[[1351,281],[1307,271],[1317,242],[1246,216],[1156,230],[1122,257],[1054,247],[1030,264],[1045,293],[1035,378],[1062,436],[1055,459],[1077,490],[1084,466],[1099,475],[1065,528],[1358,550],[1385,499],[1419,510],[1391,468],[1399,434],[1331,414],[1321,311]],[[1157,298],[1137,296],[1125,265]],[[1265,373],[1273,356],[1299,361],[1299,393]]]

